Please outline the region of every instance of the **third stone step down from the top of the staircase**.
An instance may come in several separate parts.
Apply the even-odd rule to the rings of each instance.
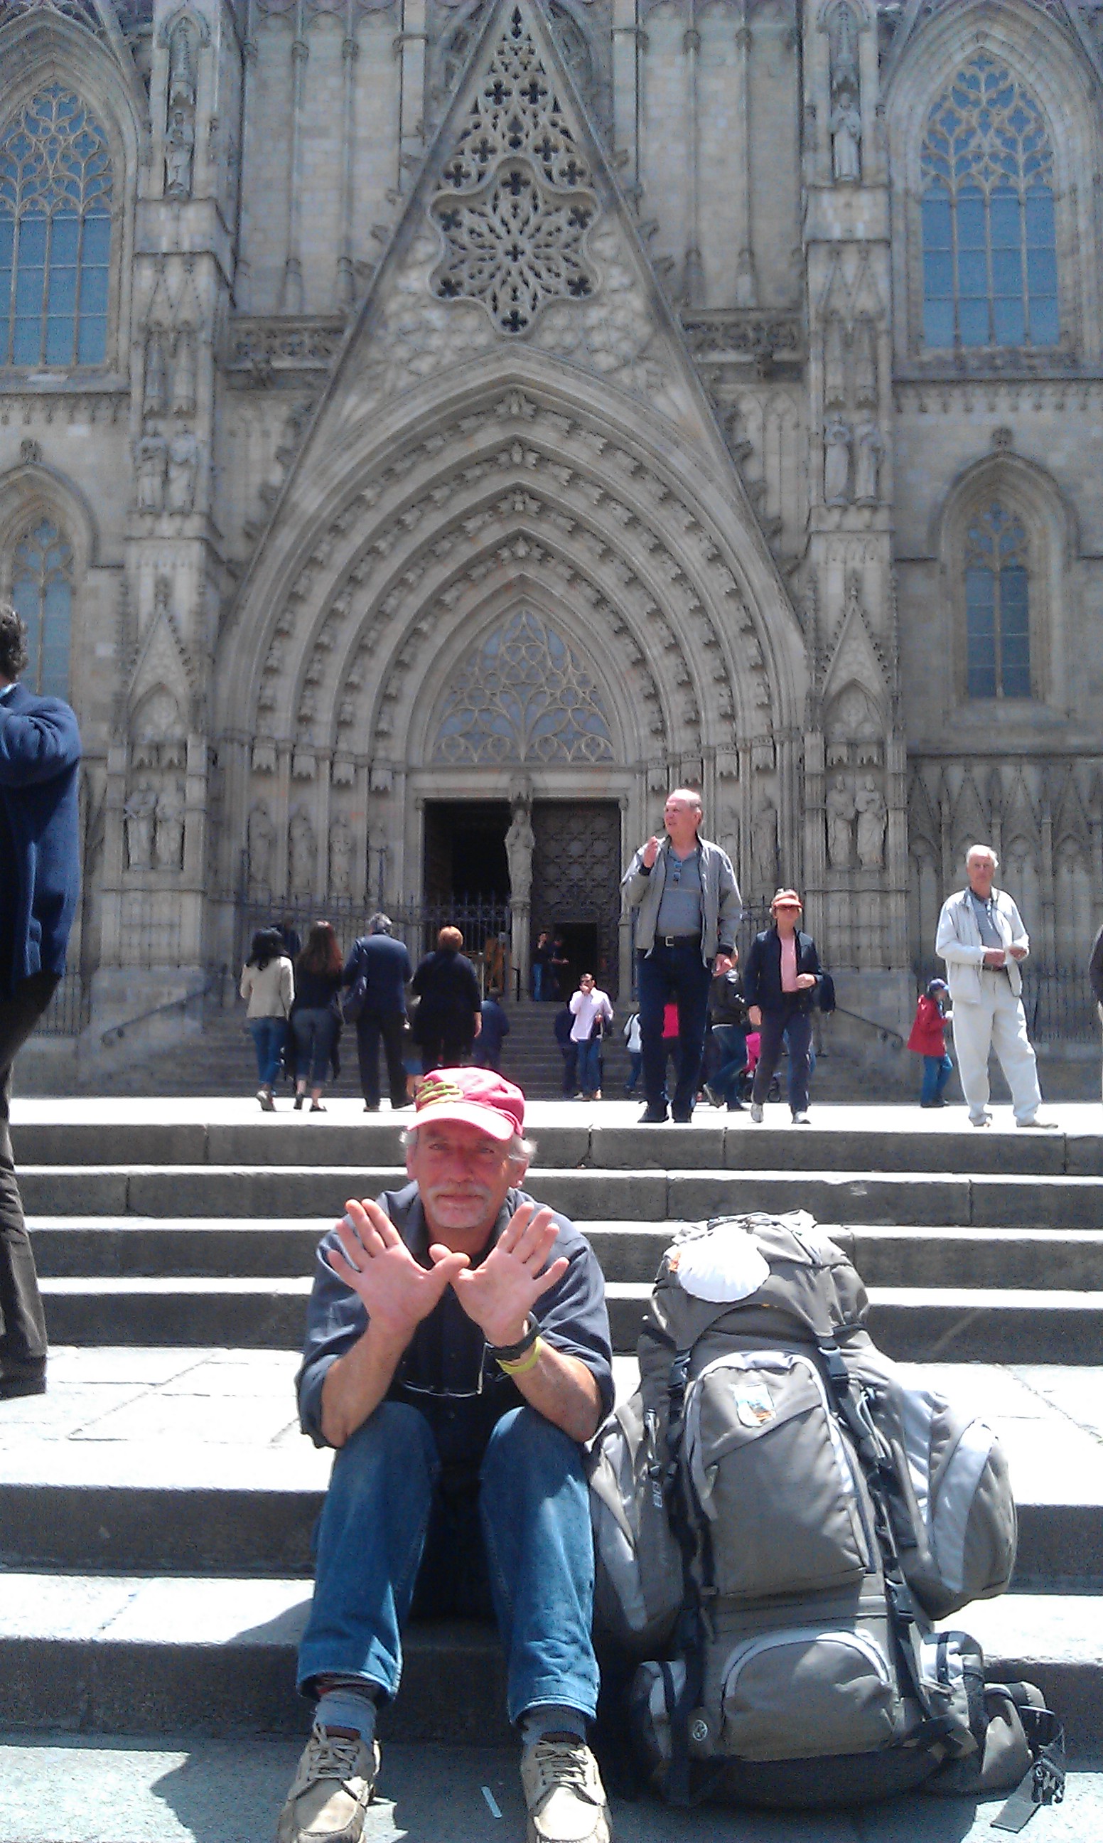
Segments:
[[[313,1272],[331,1218],[31,1216],[39,1274],[77,1277],[293,1277]],[[611,1281],[650,1283],[679,1222],[578,1222]],[[834,1240],[869,1286],[1103,1290],[1101,1229],[877,1229]]]

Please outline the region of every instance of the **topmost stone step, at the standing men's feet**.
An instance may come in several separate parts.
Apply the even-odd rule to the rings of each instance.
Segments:
[[[234,1119],[239,1102],[192,1104],[192,1119],[138,1119],[125,1122],[118,1111],[109,1117],[72,1121],[48,1113],[48,1102],[24,1102],[20,1113],[37,1106],[42,1117],[17,1119],[15,1156],[20,1167],[75,1165],[291,1165],[291,1167],[383,1167],[401,1161],[400,1133],[409,1113],[392,1115],[387,1104],[379,1115],[365,1115],[355,1102],[333,1102],[331,1111],[313,1117],[282,1111]],[[87,1104],[92,1113],[92,1104]],[[823,1109],[825,1113],[829,1109]],[[854,1109],[838,1108],[838,1117]],[[1088,1109],[1085,1109],[1088,1111]],[[210,1117],[208,1117],[210,1113]],[[538,1163],[547,1167],[610,1170],[760,1170],[760,1172],[911,1172],[978,1174],[1000,1178],[1103,1178],[1103,1135],[1096,1132],[989,1132],[919,1130],[908,1108],[878,1109],[884,1124],[849,1126],[753,1126],[749,1115],[727,1115],[698,1108],[689,1126],[637,1126],[637,1108],[626,1102],[600,1102],[571,1108],[538,1102],[530,1109],[530,1132],[538,1143]],[[926,1115],[930,1119],[930,1115]],[[941,1115],[934,1117],[941,1124]]]

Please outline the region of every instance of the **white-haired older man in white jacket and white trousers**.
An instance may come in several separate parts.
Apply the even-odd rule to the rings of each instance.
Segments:
[[[967,888],[946,898],[935,953],[946,962],[954,1003],[958,1074],[972,1126],[991,1126],[989,1051],[1007,1076],[1016,1126],[1055,1126],[1039,1117],[1039,1065],[1026,1034],[1020,960],[1029,953],[1022,916],[1005,890],[993,888],[998,857],[989,844],[965,855]]]

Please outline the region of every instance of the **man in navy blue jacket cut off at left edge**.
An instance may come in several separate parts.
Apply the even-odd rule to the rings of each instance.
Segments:
[[[77,909],[81,735],[18,684],[28,634],[0,606],[0,1401],[46,1388],[46,1320],[7,1128],[11,1065],[64,973]]]

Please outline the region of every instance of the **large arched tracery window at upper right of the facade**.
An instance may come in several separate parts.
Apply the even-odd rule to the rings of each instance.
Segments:
[[[921,173],[923,343],[1057,345],[1053,149],[1033,96],[987,53],[930,111]]]

